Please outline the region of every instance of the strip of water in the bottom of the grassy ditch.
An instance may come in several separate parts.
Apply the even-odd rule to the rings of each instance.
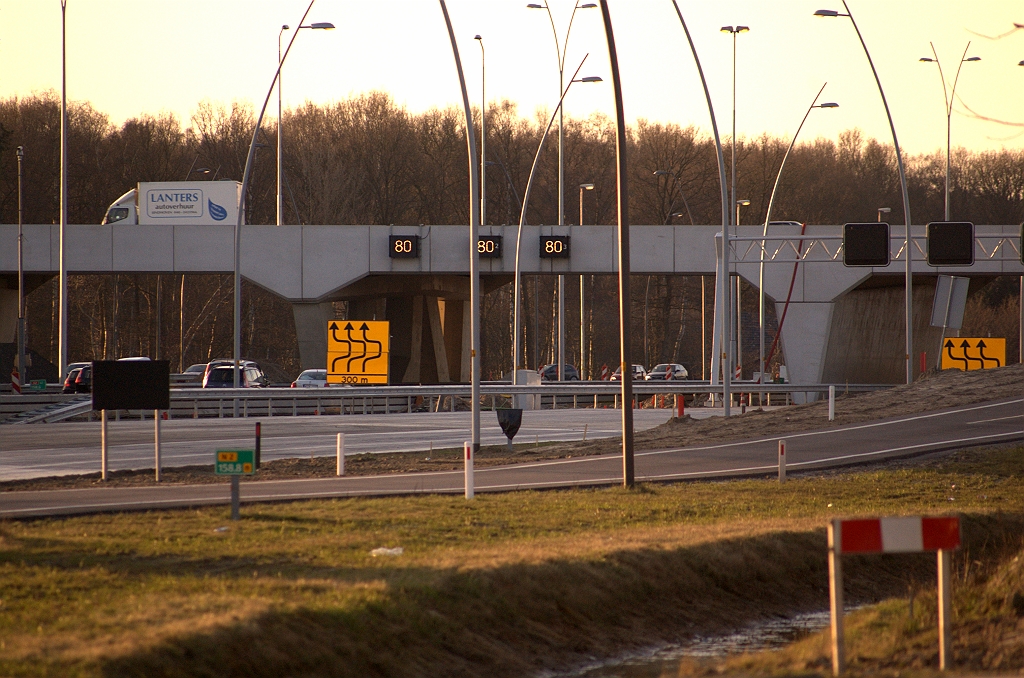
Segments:
[[[659,678],[675,676],[683,658],[724,656],[762,649],[774,649],[828,626],[828,611],[807,612],[782,620],[770,620],[727,636],[696,637],[681,644],[666,645],[646,652],[620,658],[611,663],[590,665],[563,678]]]

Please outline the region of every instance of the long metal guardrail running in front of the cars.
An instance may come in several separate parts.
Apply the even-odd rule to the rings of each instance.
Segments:
[[[838,392],[863,392],[891,388],[888,384],[849,384],[837,386]],[[765,405],[788,405],[794,393],[827,392],[829,384],[757,384],[733,382],[735,398],[746,394],[753,405],[758,394],[765,394]],[[607,381],[545,382],[512,385],[508,382],[483,382],[482,406],[494,410],[511,407],[512,396],[519,396],[525,409],[620,407],[622,385]],[[721,394],[720,385],[702,381],[634,381],[634,407],[674,407],[667,396],[681,395],[699,399],[701,395]],[[455,412],[469,407],[469,384],[342,386],[329,388],[174,388],[166,417],[209,418],[281,417],[325,414],[398,414],[408,412]],[[781,398],[781,402],[779,399]],[[773,401],[774,400],[774,401]],[[649,401],[649,402],[648,402]],[[721,401],[719,396],[718,401]],[[54,404],[65,404],[56,407]],[[0,416],[8,420],[20,413],[17,423],[55,422],[79,416],[92,417],[91,402],[81,395],[31,394],[0,398]],[[152,412],[125,414],[126,417],[152,417]],[[112,413],[120,419],[120,412]],[[11,423],[14,423],[13,421]]]

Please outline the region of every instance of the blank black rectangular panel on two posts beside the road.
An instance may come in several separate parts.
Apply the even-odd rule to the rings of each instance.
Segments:
[[[94,361],[92,409],[170,410],[168,361]]]

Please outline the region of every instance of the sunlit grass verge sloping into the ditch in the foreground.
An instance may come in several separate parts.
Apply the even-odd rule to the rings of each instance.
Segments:
[[[0,523],[0,675],[523,676],[826,605],[834,515],[1024,524],[1024,449],[793,479]],[[401,547],[397,556],[373,555]],[[959,564],[964,567],[962,561]],[[848,597],[934,578],[850,559]]]

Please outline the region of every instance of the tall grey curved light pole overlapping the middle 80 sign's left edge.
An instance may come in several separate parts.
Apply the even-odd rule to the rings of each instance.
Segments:
[[[469,94],[466,92],[466,76],[462,72],[462,59],[459,56],[459,45],[455,40],[452,19],[447,13],[444,0],[437,0],[444,14],[444,25],[447,27],[449,40],[452,42],[452,55],[455,57],[456,71],[459,72],[459,86],[462,89],[462,105],[466,115],[466,156],[469,161],[469,359],[470,359],[470,409],[472,423],[470,424],[473,455],[480,450],[480,252],[477,241],[480,239],[480,176],[476,166],[476,135],[473,134],[473,111],[469,107]],[[482,43],[481,43],[482,45]],[[468,494],[467,498],[472,497]]]

